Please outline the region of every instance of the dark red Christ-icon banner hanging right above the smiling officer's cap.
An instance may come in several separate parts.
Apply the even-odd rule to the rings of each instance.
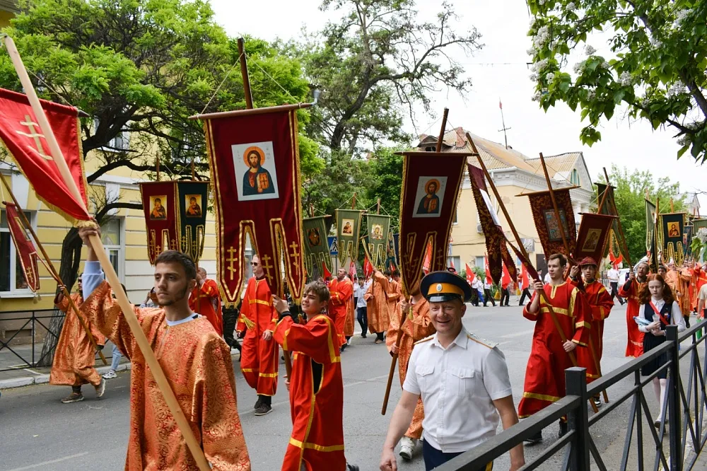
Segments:
[[[452,219],[469,153],[402,152],[402,155],[399,265],[403,286],[410,287],[420,277],[428,244],[431,244],[429,270],[447,268]]]

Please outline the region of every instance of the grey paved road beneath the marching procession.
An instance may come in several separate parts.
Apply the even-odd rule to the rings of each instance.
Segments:
[[[469,308],[464,323],[472,332],[499,343],[506,354],[516,405],[522,395],[525,366],[530,351],[534,325],[522,318],[520,308]],[[625,308],[616,306],[607,320],[604,334],[602,368],[609,371],[626,363]],[[253,469],[278,470],[288,442],[291,419],[286,390],[280,383],[274,397],[274,411],[264,417],[253,415],[255,392],[248,388],[238,371],[238,355],[234,357],[238,388],[238,409]],[[373,338],[358,335],[341,361],[344,371],[344,434],[346,456],[362,471],[378,469],[380,448],[392,408],[399,398],[399,382],[395,378],[387,416],[380,414],[390,356]],[[284,367],[281,366],[284,370]],[[626,380],[609,390],[609,398],[617,397],[631,387]],[[110,380],[102,400],[93,399],[88,386],[86,400],[64,405],[59,400],[69,388],[34,385],[6,390],[0,398],[0,471],[81,469],[122,470],[129,427],[129,373]],[[655,409],[653,394],[647,390],[648,404]],[[650,394],[648,394],[650,393]],[[623,447],[629,403],[602,419],[592,428],[597,447],[609,460],[618,463]],[[526,449],[526,458],[537,456],[556,436],[557,427],[546,432],[546,442]],[[508,457],[496,460],[497,470],[508,469]],[[401,470],[423,470],[418,455]],[[556,461],[539,469],[556,470]]]

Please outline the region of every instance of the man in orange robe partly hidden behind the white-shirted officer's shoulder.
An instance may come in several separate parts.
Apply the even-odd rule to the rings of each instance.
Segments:
[[[397,304],[395,314],[390,318],[390,325],[385,336],[385,344],[390,354],[398,355],[398,376],[401,387],[407,377],[407,366],[410,362],[415,342],[419,342],[436,332],[429,316],[430,303],[420,292],[420,281],[414,284],[410,289],[410,293],[412,295],[411,302],[402,299]],[[401,330],[400,320],[403,315],[406,316],[406,319],[402,324]],[[401,336],[399,346],[397,345],[398,336]],[[422,437],[422,421],[424,418],[425,412],[422,407],[422,397],[419,397],[410,426],[403,438],[400,439],[399,454],[406,460],[412,459],[416,442]]]

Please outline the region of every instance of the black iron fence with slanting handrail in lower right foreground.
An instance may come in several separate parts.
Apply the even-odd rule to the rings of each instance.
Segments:
[[[629,400],[631,400],[629,424],[626,428],[624,449],[618,469],[621,471],[648,469],[650,459],[646,460],[644,453],[650,449],[644,450],[644,440],[648,440],[648,446],[655,446],[655,458],[650,469],[655,471],[696,469],[699,454],[707,442],[707,431],[703,426],[707,400],[704,374],[707,369],[707,337],[704,335],[706,330],[707,322],[699,322],[681,335],[678,335],[676,326],[670,326],[667,328],[666,342],[629,361],[621,368],[604,374],[602,378],[590,385],[586,383],[584,368],[568,368],[565,371],[565,397],[436,469],[439,471],[485,470],[488,463],[508,453],[511,448],[523,443],[526,438],[556,423],[561,417],[567,417],[568,433],[528,461],[521,468],[522,471],[537,469],[549,458],[561,452],[564,453],[561,470],[616,469],[607,468],[607,463],[604,463],[604,458],[592,438],[590,427],[609,414],[613,413],[612,417],[617,417],[614,411]],[[682,344],[687,340],[691,342]],[[667,363],[650,376],[641,376],[641,367],[662,354],[667,354]],[[643,387],[651,383],[660,371],[665,370],[668,372],[667,388],[660,417],[667,417],[667,420],[662,421],[660,427],[656,429],[653,426],[653,417]],[[633,386],[629,392],[615,398],[600,412],[589,417],[587,405],[592,396],[599,395],[600,392],[631,376],[633,376]],[[644,414],[650,424],[648,427],[644,426]],[[666,435],[667,450],[663,444]],[[629,464],[634,438],[636,463]],[[590,468],[590,465],[593,467]]]

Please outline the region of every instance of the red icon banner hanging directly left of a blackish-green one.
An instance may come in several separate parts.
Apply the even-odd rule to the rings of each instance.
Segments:
[[[151,264],[165,250],[179,250],[179,219],[175,182],[140,184],[147,226],[147,254]]]

